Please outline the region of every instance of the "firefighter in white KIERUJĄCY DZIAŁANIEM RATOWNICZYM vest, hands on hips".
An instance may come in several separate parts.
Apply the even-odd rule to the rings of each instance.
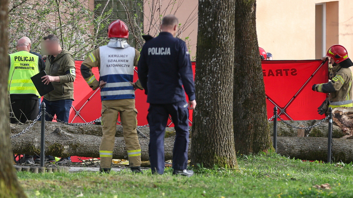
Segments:
[[[124,22],[113,21],[108,27],[109,43],[94,50],[81,65],[82,76],[90,88],[101,89],[103,136],[99,154],[100,172],[103,173],[109,173],[111,169],[119,115],[130,169],[134,173],[142,173],[135,90],[143,88],[138,82],[131,83],[140,53],[127,43],[128,35]],[[92,73],[92,67],[98,67],[100,81]]]

